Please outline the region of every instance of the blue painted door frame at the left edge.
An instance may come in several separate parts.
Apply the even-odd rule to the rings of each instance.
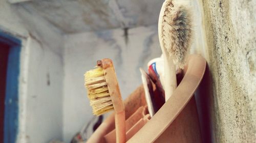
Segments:
[[[0,31],[0,42],[9,45],[5,93],[4,143],[15,143],[18,133],[18,77],[21,41]]]

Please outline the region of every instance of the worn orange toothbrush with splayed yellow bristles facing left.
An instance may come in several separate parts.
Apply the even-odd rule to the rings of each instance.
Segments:
[[[87,71],[84,78],[93,114],[99,116],[114,109],[116,142],[124,143],[125,111],[112,60],[97,61],[95,69]]]

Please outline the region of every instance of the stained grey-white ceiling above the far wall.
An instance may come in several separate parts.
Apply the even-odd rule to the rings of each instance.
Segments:
[[[33,0],[19,7],[46,19],[62,33],[156,24],[164,0]]]

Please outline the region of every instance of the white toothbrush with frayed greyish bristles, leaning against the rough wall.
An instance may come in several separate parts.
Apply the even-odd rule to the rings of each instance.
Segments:
[[[191,45],[191,12],[184,1],[166,0],[158,21],[158,35],[164,59],[165,101],[177,88],[176,67],[183,69]]]

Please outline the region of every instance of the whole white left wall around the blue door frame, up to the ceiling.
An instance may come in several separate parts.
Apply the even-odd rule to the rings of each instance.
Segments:
[[[4,0],[0,0],[0,19],[1,31],[22,40],[17,142],[61,140],[61,35],[36,14],[16,9]]]

